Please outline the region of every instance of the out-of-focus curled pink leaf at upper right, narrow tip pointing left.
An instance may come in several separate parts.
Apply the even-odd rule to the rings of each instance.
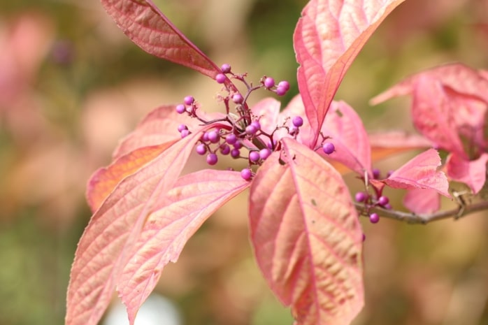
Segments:
[[[405,94],[413,97],[415,127],[439,147],[464,159],[467,152],[477,155],[486,149],[488,80],[482,71],[463,64],[438,66],[412,75],[371,101],[380,103]],[[470,145],[468,150],[461,137]]]

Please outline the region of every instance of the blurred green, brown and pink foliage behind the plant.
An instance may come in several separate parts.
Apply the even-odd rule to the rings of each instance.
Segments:
[[[156,2],[217,64],[254,82],[289,80],[283,106],[296,94],[292,33],[305,0]],[[336,98],[356,108],[368,130],[412,130],[408,99],[378,107],[368,100],[445,62],[487,68],[487,54],[488,1],[408,0],[368,42]],[[69,268],[90,217],[87,178],[152,108],[192,94],[217,110],[218,89],[138,49],[99,1],[0,3],[0,324],[63,324]],[[345,178],[360,189],[354,176]],[[401,208],[401,195],[389,195]],[[487,217],[364,222],[366,308],[354,324],[488,324]],[[239,196],[165,269],[157,291],[185,324],[292,324],[252,259],[246,218]]]

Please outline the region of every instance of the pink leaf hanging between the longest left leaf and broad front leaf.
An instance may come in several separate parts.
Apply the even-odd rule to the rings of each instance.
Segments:
[[[164,266],[178,259],[187,240],[215,210],[249,185],[241,173],[213,170],[185,175],[176,182],[145,222],[117,284],[130,324]]]

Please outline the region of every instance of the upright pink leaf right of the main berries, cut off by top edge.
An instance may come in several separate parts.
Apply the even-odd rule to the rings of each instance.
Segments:
[[[306,115],[319,130],[347,68],[382,20],[403,0],[312,0],[294,32],[298,82]]]

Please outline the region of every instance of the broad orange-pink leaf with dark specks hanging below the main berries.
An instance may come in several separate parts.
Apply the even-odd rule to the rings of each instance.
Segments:
[[[298,324],[350,324],[364,291],[357,212],[339,173],[320,155],[291,138],[282,145],[251,186],[257,262]]]

